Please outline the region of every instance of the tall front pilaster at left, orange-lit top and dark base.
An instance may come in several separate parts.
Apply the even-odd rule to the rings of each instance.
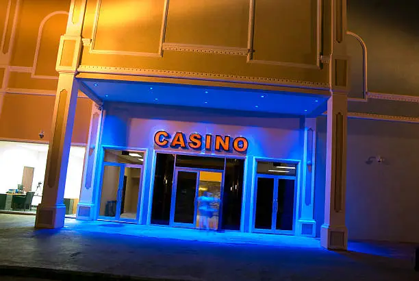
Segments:
[[[55,66],[59,73],[58,87],[42,201],[36,210],[36,228],[61,228],[64,226],[66,212],[64,188],[79,93],[79,83],[75,80],[75,74],[81,53],[81,28],[86,10],[86,0],[72,0],[70,9],[66,34],[61,36]]]

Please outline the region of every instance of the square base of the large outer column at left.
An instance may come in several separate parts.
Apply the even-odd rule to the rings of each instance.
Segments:
[[[38,205],[36,209],[35,228],[62,228],[66,215],[66,206],[57,204],[55,206]]]

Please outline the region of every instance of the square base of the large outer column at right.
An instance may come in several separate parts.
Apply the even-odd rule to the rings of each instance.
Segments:
[[[322,225],[320,229],[320,245],[326,249],[348,249],[348,229],[346,226]]]

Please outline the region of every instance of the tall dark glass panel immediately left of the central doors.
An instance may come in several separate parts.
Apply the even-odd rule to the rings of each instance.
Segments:
[[[157,154],[151,210],[152,224],[169,224],[174,165],[173,154]]]

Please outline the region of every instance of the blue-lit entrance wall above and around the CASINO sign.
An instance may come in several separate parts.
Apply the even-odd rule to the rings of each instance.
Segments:
[[[169,134],[184,132],[244,136],[249,140],[247,173],[244,188],[246,197],[245,216],[249,217],[251,188],[253,185],[253,156],[288,160],[301,160],[304,123],[299,117],[210,109],[186,109],[163,106],[142,106],[128,103],[107,103],[103,125],[102,145],[149,149],[144,174],[144,201],[148,206],[151,187],[154,134],[165,130]],[[179,151],[179,150],[177,150]],[[185,152],[184,150],[181,150]],[[191,153],[196,151],[190,150]],[[142,213],[142,221],[147,212]],[[244,230],[249,229],[245,219]]]

